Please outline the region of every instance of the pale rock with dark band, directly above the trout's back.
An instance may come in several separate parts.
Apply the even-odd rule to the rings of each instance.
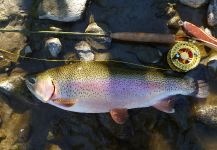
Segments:
[[[91,50],[91,47],[87,42],[81,41],[77,43],[75,45],[75,49],[77,51],[77,54],[80,60],[83,60],[83,61],[94,60],[93,51]]]

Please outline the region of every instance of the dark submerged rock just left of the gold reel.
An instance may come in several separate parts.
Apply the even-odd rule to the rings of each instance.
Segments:
[[[142,63],[158,63],[162,59],[161,51],[152,47],[140,47],[135,50],[135,53]]]

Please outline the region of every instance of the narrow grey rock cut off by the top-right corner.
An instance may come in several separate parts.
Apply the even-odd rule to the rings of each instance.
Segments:
[[[212,0],[209,4],[207,22],[210,26],[217,24],[217,0]]]

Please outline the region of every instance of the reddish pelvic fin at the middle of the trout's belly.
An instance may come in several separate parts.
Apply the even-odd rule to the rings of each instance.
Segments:
[[[117,123],[117,124],[124,124],[125,121],[128,118],[128,111],[127,109],[112,109],[110,111],[112,119]]]

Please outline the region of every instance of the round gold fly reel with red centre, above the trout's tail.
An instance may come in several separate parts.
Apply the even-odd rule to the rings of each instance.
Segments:
[[[187,72],[198,66],[200,50],[190,42],[177,42],[167,54],[169,66],[178,72]]]

